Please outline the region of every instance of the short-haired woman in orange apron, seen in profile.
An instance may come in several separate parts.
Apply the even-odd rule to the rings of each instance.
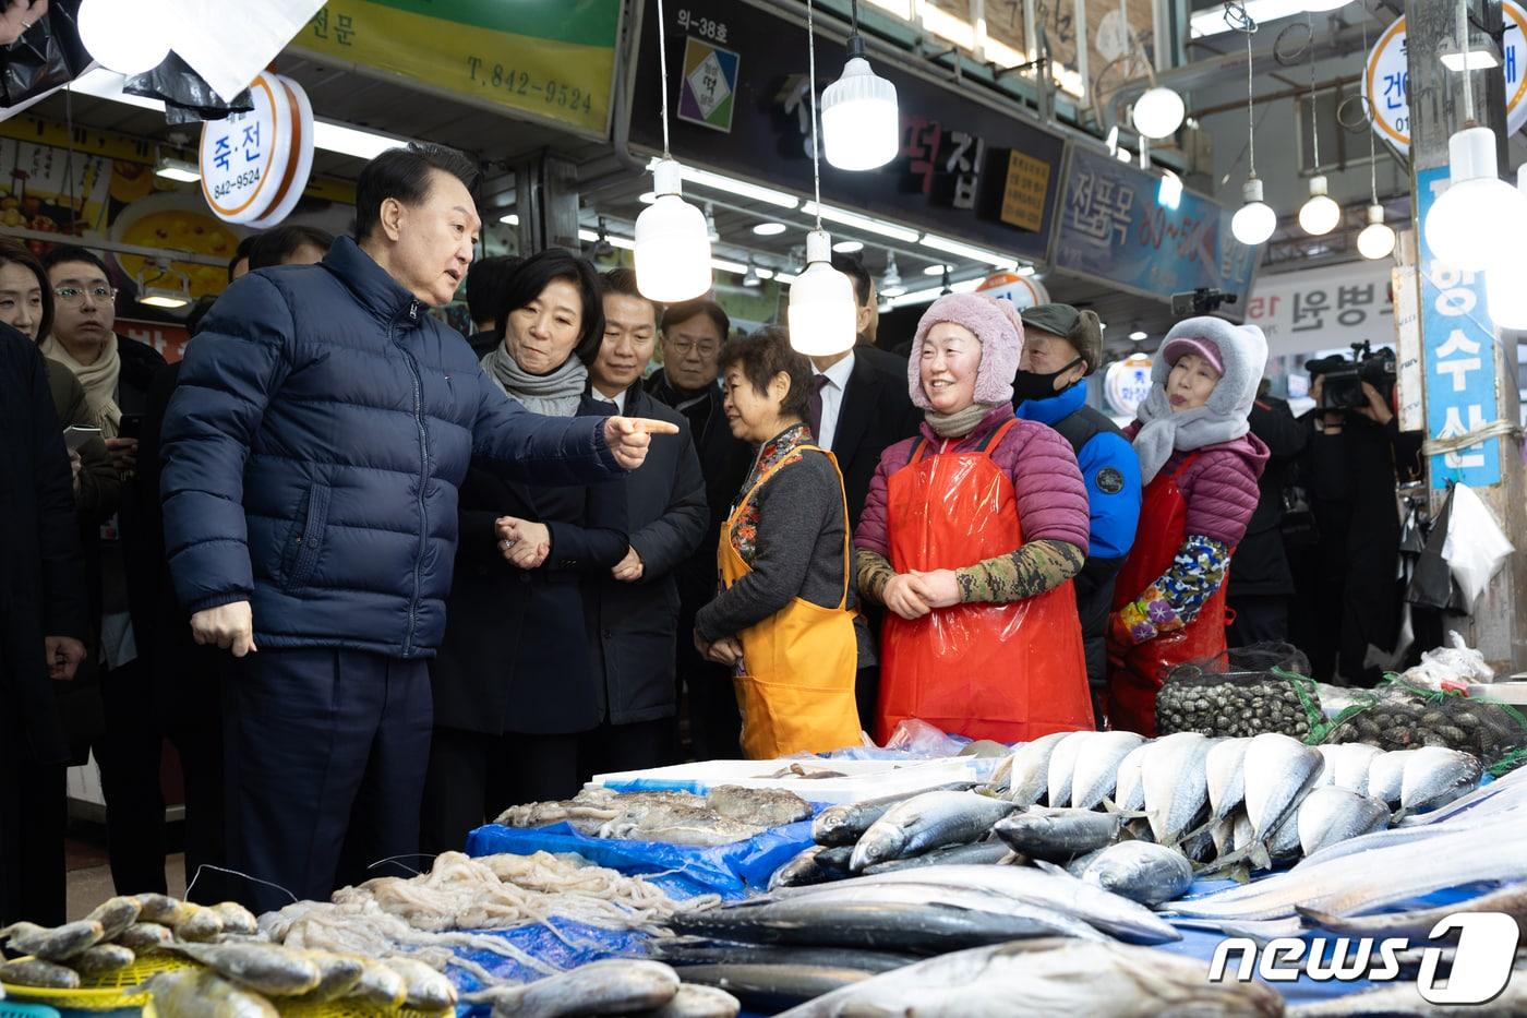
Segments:
[[[803,423],[811,365],[782,330],[722,352],[727,420],[759,445],[721,530],[721,592],[695,616],[695,644],[731,665],[742,754],[768,760],[860,744],[843,475]]]

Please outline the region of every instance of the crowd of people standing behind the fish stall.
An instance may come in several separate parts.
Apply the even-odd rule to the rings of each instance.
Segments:
[[[1121,431],[1089,310],[947,295],[901,358],[840,257],[858,344],[805,358],[567,251],[473,261],[472,183],[379,156],[354,237],[247,240],[169,365],[98,255],[0,245],[0,922],[63,920],[90,752],[119,891],[165,890],[168,738],[192,897],[266,909],[600,772],[1148,734],[1228,595],[1286,636],[1277,578],[1226,585],[1307,433],[1257,426],[1257,329],[1179,323]]]

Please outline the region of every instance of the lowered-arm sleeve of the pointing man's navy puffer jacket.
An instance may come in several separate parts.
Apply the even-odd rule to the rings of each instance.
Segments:
[[[247,275],[186,347],[165,413],[159,491],[169,573],[188,611],[253,595],[244,465],[270,396],[292,370],[293,336],[281,290]]]

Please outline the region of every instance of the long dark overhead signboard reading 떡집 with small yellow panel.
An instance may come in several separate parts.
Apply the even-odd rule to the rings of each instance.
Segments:
[[[673,0],[664,8],[676,102],[672,150],[698,167],[809,193],[805,23],[736,0]],[[631,142],[660,151],[657,0],[643,5],[640,32]],[[818,34],[818,93],[838,76],[844,58],[841,43]],[[899,153],[889,165],[863,173],[823,162],[823,202],[1017,258],[1046,258],[1064,141],[889,61],[872,64],[896,86]]]

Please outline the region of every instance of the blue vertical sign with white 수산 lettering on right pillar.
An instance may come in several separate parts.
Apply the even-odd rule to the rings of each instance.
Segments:
[[[1425,223],[1446,186],[1448,167],[1416,171],[1417,223]],[[1495,393],[1495,326],[1484,304],[1484,275],[1458,272],[1432,257],[1419,229],[1422,345],[1426,364],[1426,434],[1455,439],[1500,414]],[[1431,457],[1431,486],[1471,488],[1501,480],[1500,439]]]

